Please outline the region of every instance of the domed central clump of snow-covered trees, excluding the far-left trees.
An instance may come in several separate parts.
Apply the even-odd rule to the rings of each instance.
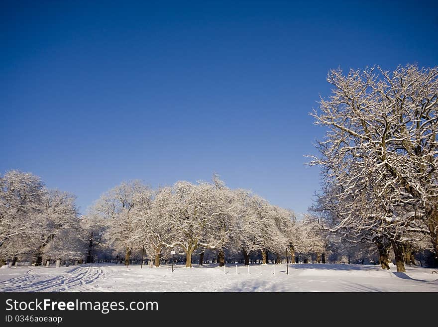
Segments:
[[[315,245],[319,236],[310,241],[307,224],[297,223],[292,211],[231,190],[216,175],[212,182],[183,181],[156,191],[139,181],[122,183],[102,195],[88,219],[107,226],[111,246],[124,249],[126,261],[133,250],[144,249],[156,266],[172,250],[186,256],[187,267],[194,254],[202,263],[208,250],[218,253],[219,265],[225,252],[240,253],[247,265],[255,252],[266,263],[268,251],[277,262],[297,250],[322,251]]]

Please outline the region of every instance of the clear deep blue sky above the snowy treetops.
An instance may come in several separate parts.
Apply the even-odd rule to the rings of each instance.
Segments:
[[[305,212],[330,68],[438,65],[437,1],[1,1],[0,172],[209,180]]]

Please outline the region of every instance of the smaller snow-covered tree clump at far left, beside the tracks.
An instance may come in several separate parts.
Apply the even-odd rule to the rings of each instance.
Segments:
[[[39,177],[16,170],[0,177],[0,184],[0,255],[23,255],[42,264],[47,246],[61,244],[65,231],[78,225],[75,197],[48,190]],[[79,232],[72,235],[80,238]]]

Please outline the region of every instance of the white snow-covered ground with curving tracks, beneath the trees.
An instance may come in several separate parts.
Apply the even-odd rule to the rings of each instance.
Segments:
[[[261,269],[261,273],[260,273]],[[274,274],[275,269],[275,274]],[[2,267],[1,292],[438,292],[434,269],[347,264]]]

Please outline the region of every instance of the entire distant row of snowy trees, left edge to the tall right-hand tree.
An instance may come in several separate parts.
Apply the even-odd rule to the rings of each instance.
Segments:
[[[118,254],[129,264],[132,254],[146,254],[155,265],[170,251],[186,257],[206,251],[240,254],[244,263],[260,253],[276,256],[324,251],[314,223],[297,222],[290,210],[269,204],[249,191],[231,190],[214,176],[212,182],[180,181],[152,190],[140,181],[123,182],[101,196],[80,216],[75,197],[47,189],[30,173],[0,176],[0,258],[93,262],[103,253]]]

